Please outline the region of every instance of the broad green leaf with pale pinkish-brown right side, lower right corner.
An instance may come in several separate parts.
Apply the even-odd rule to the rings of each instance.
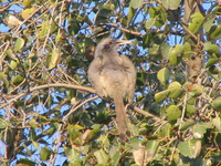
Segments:
[[[189,139],[187,142],[180,142],[178,144],[178,149],[186,157],[197,158],[201,152],[201,141]]]

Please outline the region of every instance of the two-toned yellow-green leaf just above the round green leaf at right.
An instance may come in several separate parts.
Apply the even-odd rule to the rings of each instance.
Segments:
[[[182,94],[181,84],[179,82],[175,81],[175,82],[169,84],[168,91],[169,91],[169,97],[170,98],[180,97],[181,94]]]

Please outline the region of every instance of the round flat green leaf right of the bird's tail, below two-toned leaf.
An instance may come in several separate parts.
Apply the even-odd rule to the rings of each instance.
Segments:
[[[167,108],[167,118],[172,122],[178,120],[181,116],[181,111],[177,105],[170,105]]]

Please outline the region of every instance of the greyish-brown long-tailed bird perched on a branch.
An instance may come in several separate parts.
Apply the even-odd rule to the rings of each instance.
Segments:
[[[95,49],[94,60],[87,72],[97,95],[114,100],[120,141],[126,141],[130,135],[124,98],[133,102],[137,72],[129,58],[120,55],[117,49],[129,43],[128,40],[103,39]]]

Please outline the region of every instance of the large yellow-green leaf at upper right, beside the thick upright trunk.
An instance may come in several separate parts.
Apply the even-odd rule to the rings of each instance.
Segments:
[[[201,29],[203,20],[204,20],[204,17],[200,12],[194,12],[190,17],[188,30],[190,30],[193,34],[197,34],[199,30]]]

